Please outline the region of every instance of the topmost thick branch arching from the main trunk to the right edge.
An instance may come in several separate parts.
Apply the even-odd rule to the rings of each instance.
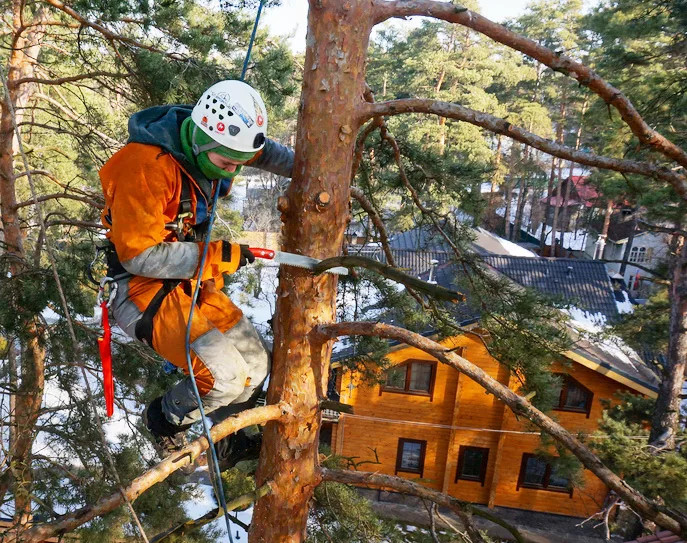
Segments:
[[[557,54],[534,40],[520,36],[506,27],[494,23],[451,2],[434,0],[375,0],[376,23],[391,17],[424,15],[451,23],[458,23],[475,30],[492,40],[524,53],[556,72],[561,72],[577,80],[600,96],[607,104],[618,110],[623,121],[630,127],[642,144],[649,145],[659,153],[687,168],[687,153],[673,142],[652,129],[632,105],[632,102],[613,85],[602,79],[594,70],[584,64]],[[687,200],[687,193],[680,193]]]

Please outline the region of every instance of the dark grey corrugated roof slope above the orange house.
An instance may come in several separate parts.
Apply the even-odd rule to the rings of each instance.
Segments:
[[[609,322],[618,308],[606,266],[600,260],[485,256],[484,261],[516,283],[559,298],[592,315],[601,313]]]

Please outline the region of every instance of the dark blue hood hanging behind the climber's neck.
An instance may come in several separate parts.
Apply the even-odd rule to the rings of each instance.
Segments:
[[[194,181],[202,191],[202,198],[198,196],[196,209],[196,224],[207,218],[207,204],[211,200],[212,181],[210,181],[189,161],[181,146],[181,123],[191,115],[193,106],[172,105],[153,106],[134,113],[129,118],[129,140],[127,143],[143,143],[161,147],[170,153],[184,169],[193,176]],[[221,180],[220,196],[225,196],[231,188],[231,181]],[[198,191],[196,191],[198,192]]]

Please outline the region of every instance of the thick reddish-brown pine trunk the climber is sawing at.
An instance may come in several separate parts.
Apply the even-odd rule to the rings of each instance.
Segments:
[[[357,104],[374,24],[369,0],[311,0],[293,181],[281,206],[284,250],[326,258],[339,254],[348,215]],[[328,193],[328,205],[318,196]],[[308,341],[335,318],[336,276],[282,267],[268,403],[293,408],[294,422],[265,428],[258,485],[273,493],[256,505],[249,540],[300,542],[319,483],[319,401],[326,396],[331,342]],[[319,340],[318,340],[319,341]]]

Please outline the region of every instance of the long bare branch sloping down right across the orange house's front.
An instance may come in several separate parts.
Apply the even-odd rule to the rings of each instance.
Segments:
[[[543,432],[551,435],[570,450],[588,470],[594,473],[607,487],[614,490],[642,517],[656,522],[656,524],[666,530],[680,533],[683,537],[687,535],[687,516],[677,511],[662,508],[648,500],[608,469],[596,454],[583,445],[570,432],[539,411],[526,398],[516,394],[484,370],[469,360],[458,356],[455,352],[451,352],[443,345],[409,330],[381,323],[341,322],[322,325],[318,330],[328,338],[349,335],[375,336],[400,341],[425,351],[440,362],[467,375],[470,379],[484,387],[487,392],[492,393],[505,402],[513,413],[527,417]]]

